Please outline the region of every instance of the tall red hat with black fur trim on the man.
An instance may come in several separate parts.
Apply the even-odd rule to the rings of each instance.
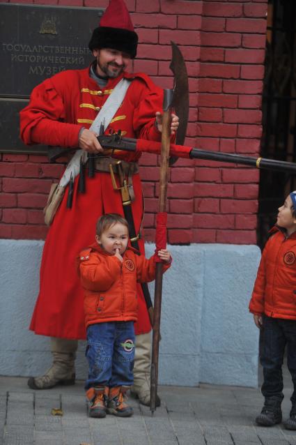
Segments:
[[[98,28],[93,31],[88,48],[93,51],[111,48],[130,54],[137,54],[138,36],[134,32],[130,14],[123,0],[110,0]]]

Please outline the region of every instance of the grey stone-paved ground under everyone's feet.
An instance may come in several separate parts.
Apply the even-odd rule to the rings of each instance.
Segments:
[[[296,432],[254,424],[263,402],[258,389],[161,386],[159,395],[153,416],[130,398],[132,418],[95,419],[88,418],[83,382],[32,391],[24,378],[0,377],[0,445],[296,445]],[[63,416],[52,416],[52,408]]]

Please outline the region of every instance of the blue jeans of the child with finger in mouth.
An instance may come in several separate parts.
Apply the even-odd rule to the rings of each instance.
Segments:
[[[132,386],[134,322],[91,324],[86,333],[86,391],[96,386]]]

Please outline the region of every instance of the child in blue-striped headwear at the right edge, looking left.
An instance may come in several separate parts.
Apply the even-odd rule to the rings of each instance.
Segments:
[[[256,326],[262,329],[263,337],[260,363],[265,403],[256,423],[272,426],[281,422],[281,367],[287,345],[294,391],[290,398],[290,418],[284,426],[296,430],[296,191],[279,207],[276,225],[263,250],[249,310],[254,314]]]

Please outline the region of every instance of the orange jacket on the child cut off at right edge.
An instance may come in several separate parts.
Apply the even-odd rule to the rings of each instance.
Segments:
[[[296,232],[271,230],[260,261],[249,310],[254,315],[296,319]]]

